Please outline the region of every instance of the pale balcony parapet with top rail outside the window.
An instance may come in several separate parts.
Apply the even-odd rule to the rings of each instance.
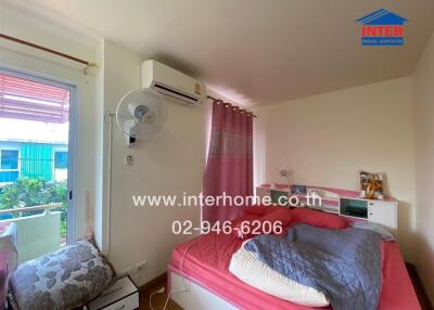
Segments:
[[[62,204],[50,204],[34,207],[0,210],[0,215],[20,215],[43,211],[37,215],[22,216],[1,220],[14,222],[18,230],[18,262],[37,258],[43,254],[59,249],[64,241],[61,236]]]

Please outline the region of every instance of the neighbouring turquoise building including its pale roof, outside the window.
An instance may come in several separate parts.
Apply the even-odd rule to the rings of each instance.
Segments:
[[[40,100],[37,102],[43,105]],[[2,103],[9,104],[9,101]],[[34,102],[28,104],[35,105]],[[48,182],[66,180],[69,124],[49,122],[46,118],[38,120],[40,116],[37,115],[26,115],[29,119],[5,116],[0,115],[0,185],[20,178],[38,178]]]

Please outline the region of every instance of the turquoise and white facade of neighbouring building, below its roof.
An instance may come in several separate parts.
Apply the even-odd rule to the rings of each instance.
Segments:
[[[0,141],[0,184],[20,178],[46,181],[67,179],[68,153],[64,143]]]

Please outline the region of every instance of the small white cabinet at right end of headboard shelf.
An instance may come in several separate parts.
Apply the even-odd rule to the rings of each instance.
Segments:
[[[397,203],[395,202],[368,202],[368,221],[381,223],[391,229],[397,229]]]

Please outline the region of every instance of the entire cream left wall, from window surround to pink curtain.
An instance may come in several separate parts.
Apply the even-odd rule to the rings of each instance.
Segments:
[[[170,103],[164,129],[135,148],[124,146],[114,124],[108,222],[108,125],[104,114],[114,113],[119,99],[140,87],[140,64],[146,57],[110,41],[86,38],[84,33],[64,28],[50,18],[28,16],[15,8],[0,10],[0,30],[99,64],[98,70],[85,76],[81,65],[0,42],[1,65],[77,86],[76,236],[85,235],[88,217],[93,218],[97,242],[117,271],[146,260],[148,269],[137,280],[144,283],[163,273],[174,246],[190,237],[173,235],[173,221],[188,219],[197,223],[200,209],[136,208],[131,195],[201,192],[210,105],[188,107]],[[123,164],[127,154],[135,157],[131,167]]]

